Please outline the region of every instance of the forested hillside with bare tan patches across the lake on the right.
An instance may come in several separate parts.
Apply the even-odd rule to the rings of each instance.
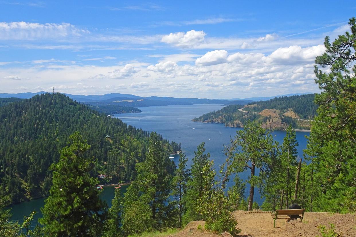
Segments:
[[[310,120],[318,108],[314,97],[315,94],[283,96],[245,106],[233,104],[194,118],[194,121],[239,127],[253,120],[262,123],[264,128],[285,129],[290,124],[294,129],[310,129]]]

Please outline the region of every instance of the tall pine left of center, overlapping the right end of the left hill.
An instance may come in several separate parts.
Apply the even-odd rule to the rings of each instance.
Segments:
[[[141,233],[150,227],[161,230],[172,225],[173,207],[168,198],[172,191],[174,168],[162,149],[157,133],[150,134],[148,147],[146,160],[138,166],[137,177],[125,194],[125,234]],[[138,212],[141,214],[132,215]],[[137,223],[133,226],[132,221],[144,227],[138,230]]]

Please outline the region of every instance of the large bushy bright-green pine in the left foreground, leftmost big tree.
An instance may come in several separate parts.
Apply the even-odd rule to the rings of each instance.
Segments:
[[[95,161],[85,157],[90,145],[78,132],[69,140],[58,163],[51,165],[53,185],[39,222],[46,235],[98,236],[108,213],[95,188],[98,180],[89,174]]]

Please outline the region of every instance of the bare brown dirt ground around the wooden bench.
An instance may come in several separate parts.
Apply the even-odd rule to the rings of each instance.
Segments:
[[[340,236],[356,237],[356,214],[329,214],[317,212],[305,212],[303,222],[293,220],[286,222],[285,219],[276,220],[276,228],[273,228],[273,219],[270,213],[252,213],[247,211],[236,211],[235,218],[237,227],[241,229],[239,237],[266,236],[266,237],[294,237],[294,236],[318,236],[318,226],[325,225],[330,228],[329,223],[335,225],[335,232]],[[231,235],[216,235],[214,233],[198,230],[198,225],[204,228],[204,221],[190,222],[182,231],[171,235],[171,237],[216,237]],[[321,235],[320,235],[321,236]]]

